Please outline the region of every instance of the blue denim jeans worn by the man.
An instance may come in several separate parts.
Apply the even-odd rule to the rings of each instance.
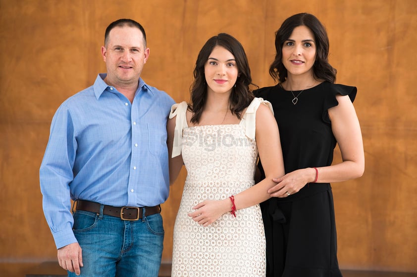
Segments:
[[[163,248],[160,214],[137,221],[78,210],[73,231],[82,249],[81,277],[157,277]],[[75,277],[68,272],[69,277]]]

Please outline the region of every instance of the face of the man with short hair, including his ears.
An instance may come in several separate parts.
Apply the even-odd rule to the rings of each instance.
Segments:
[[[137,85],[149,57],[149,48],[145,48],[142,32],[138,28],[115,27],[108,35],[107,45],[102,47],[102,55],[110,85]]]

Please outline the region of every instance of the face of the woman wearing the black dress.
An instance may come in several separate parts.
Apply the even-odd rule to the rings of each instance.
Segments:
[[[288,77],[313,77],[315,54],[313,32],[306,26],[294,28],[291,36],[282,45],[282,63],[288,71]]]

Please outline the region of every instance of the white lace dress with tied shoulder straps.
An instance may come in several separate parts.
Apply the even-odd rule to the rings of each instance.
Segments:
[[[223,199],[254,185],[258,158],[255,98],[239,124],[188,127],[187,103],[172,106],[176,116],[172,156],[182,154],[187,169],[175,220],[172,277],[264,277],[265,235],[259,205],[222,215],[208,227],[188,213],[205,199]]]

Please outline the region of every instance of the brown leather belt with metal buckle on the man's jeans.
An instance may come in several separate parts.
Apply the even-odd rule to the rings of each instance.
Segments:
[[[100,213],[100,203],[91,202],[86,200],[77,200],[77,210]],[[145,210],[145,216],[160,213],[161,208],[159,205],[153,207],[113,207],[104,205],[103,214],[119,217],[121,220],[138,220],[143,217],[143,210]]]

